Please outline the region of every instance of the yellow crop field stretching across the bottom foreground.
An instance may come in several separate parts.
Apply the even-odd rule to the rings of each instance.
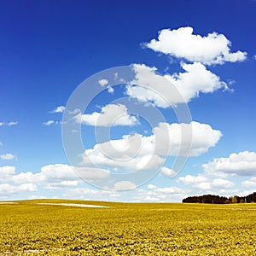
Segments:
[[[19,201],[0,204],[0,255],[252,256],[255,220],[256,204]]]

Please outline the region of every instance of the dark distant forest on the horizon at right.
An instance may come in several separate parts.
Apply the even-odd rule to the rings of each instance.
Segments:
[[[183,203],[203,203],[203,204],[235,204],[256,202],[256,192],[247,196],[219,196],[219,195],[199,195],[189,196],[183,199]]]

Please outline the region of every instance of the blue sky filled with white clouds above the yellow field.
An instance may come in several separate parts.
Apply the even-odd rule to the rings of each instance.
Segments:
[[[188,195],[255,191],[255,12],[251,0],[1,1],[0,199],[181,201]],[[132,83],[109,87],[104,70],[120,66],[131,68]],[[97,82],[86,84],[90,77]],[[168,85],[161,87],[163,79],[183,96],[193,121],[187,126],[178,124],[177,99]],[[84,80],[86,90],[100,88],[102,93],[85,112],[67,108]],[[146,88],[138,90],[136,84]],[[152,96],[152,89],[166,96],[170,106]],[[139,178],[110,181],[112,174],[137,171],[135,166],[155,150],[155,134],[165,146],[164,126],[148,124],[139,108],[147,108],[149,115],[157,109],[164,116],[171,153],[163,148],[154,152],[154,164],[143,171],[154,177],[145,183]],[[61,137],[63,114],[71,110],[77,110],[73,122],[81,127],[84,143],[75,163],[65,154]],[[113,125],[118,113],[123,119]],[[96,123],[99,116],[102,125]],[[177,143],[188,160],[182,170],[174,170],[174,141],[181,127],[193,130],[192,148],[189,153],[188,145]],[[107,148],[114,140],[122,149],[129,139],[135,147],[138,139],[137,157],[127,162],[124,154],[116,154],[120,159],[109,161],[102,155],[96,132],[102,135],[106,129],[110,136],[101,143]],[[86,162],[88,156],[94,165]],[[87,183],[73,171],[76,165],[92,176],[85,175]]]

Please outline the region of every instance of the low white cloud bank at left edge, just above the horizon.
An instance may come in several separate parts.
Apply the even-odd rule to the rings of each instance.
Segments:
[[[0,167],[0,197],[9,197],[22,192],[36,191],[38,186],[46,189],[61,189],[83,183],[87,180],[108,177],[109,172],[99,168],[77,167],[62,164],[43,166],[41,172],[15,172],[15,166]],[[4,196],[3,196],[4,195]]]

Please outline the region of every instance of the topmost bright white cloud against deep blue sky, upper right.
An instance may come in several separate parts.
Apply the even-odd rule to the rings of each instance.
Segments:
[[[152,39],[145,45],[166,55],[207,65],[244,61],[247,57],[247,53],[240,50],[230,52],[231,43],[223,34],[212,32],[202,37],[193,34],[193,28],[189,26],[163,29],[159,32],[158,40]]]

